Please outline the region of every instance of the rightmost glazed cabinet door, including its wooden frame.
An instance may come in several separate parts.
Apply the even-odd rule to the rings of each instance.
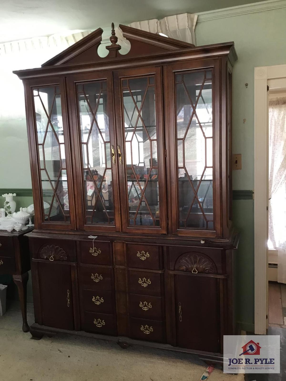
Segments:
[[[169,211],[173,233],[219,237],[220,71],[218,60],[184,62],[167,68],[169,119]]]

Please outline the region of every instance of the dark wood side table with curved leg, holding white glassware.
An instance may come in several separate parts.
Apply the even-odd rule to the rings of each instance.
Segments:
[[[0,274],[13,275],[13,281],[19,292],[22,312],[22,330],[29,332],[27,323],[27,282],[31,269],[29,242],[24,234],[31,232],[28,228],[20,232],[0,231]]]

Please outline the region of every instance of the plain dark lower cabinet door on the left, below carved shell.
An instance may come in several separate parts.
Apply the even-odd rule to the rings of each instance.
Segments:
[[[73,330],[71,266],[39,263],[38,269],[43,325]]]

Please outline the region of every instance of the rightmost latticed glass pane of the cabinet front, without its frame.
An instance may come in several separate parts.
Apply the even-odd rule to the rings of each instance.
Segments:
[[[214,227],[212,70],[175,74],[178,226]]]

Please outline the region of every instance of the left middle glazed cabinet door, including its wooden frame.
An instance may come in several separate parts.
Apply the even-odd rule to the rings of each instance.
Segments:
[[[76,153],[78,225],[88,231],[118,231],[111,74],[68,77],[67,86]]]

